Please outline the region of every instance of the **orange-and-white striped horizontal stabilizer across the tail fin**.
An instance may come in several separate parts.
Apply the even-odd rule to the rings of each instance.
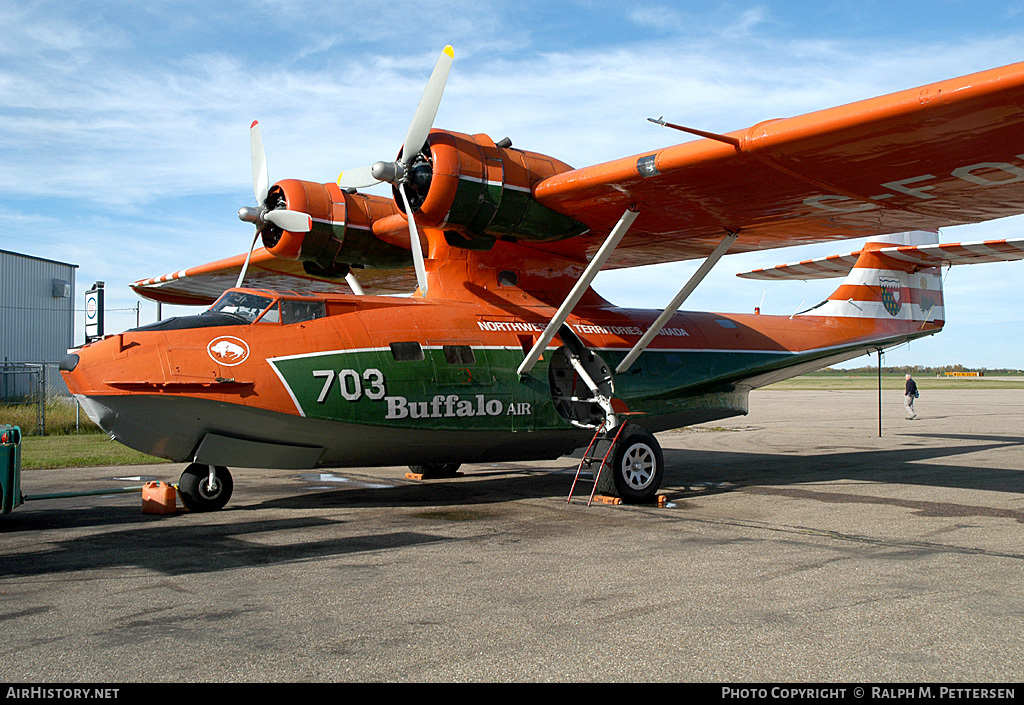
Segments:
[[[1002,262],[1024,259],[1024,239],[883,247],[878,250],[878,254],[919,267]],[[858,250],[849,254],[805,259],[794,264],[780,264],[767,269],[753,269],[736,276],[744,279],[773,281],[845,277],[853,269],[859,256],[860,251]]]

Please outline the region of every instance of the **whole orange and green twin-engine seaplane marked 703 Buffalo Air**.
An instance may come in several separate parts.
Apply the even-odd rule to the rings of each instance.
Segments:
[[[1021,241],[937,238],[1024,212],[1024,64],[726,134],[659,119],[698,138],[572,168],[433,129],[452,57],[397,159],[337,182],[271,184],[253,123],[256,205],[239,211],[253,246],[132,285],[208,308],[62,361],[113,438],[190,463],[189,508],[224,506],[227,466],[451,476],[595,439],[611,444],[614,491],[650,501],[665,470],[654,432],[744,414],[752,389],[932,335],[941,267],[1024,258]],[[393,198],[359,191],[381,182]],[[679,310],[726,253],[854,238],[866,244],[849,254],[742,275],[845,277],[808,310]],[[703,262],[663,309],[591,288],[602,268],[686,259]]]

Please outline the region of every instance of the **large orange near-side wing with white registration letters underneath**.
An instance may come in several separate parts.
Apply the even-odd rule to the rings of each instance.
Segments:
[[[546,206],[599,237],[639,211],[608,266],[910,230],[1024,212],[1024,63],[547,178]]]

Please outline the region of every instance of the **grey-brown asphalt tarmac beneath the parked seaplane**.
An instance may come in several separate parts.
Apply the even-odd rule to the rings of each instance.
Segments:
[[[1017,682],[1024,390],[776,391],[659,433],[656,506],[578,464],[232,468],[213,513],[139,495],[0,516],[8,682]],[[31,470],[27,495],[181,465]]]

